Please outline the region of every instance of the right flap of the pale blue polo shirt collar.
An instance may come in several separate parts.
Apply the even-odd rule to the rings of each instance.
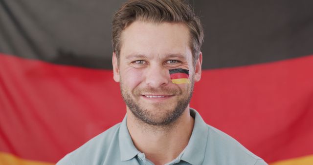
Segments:
[[[181,160],[192,165],[201,165],[207,144],[208,126],[195,109],[190,108],[190,115],[194,117],[195,124]]]

